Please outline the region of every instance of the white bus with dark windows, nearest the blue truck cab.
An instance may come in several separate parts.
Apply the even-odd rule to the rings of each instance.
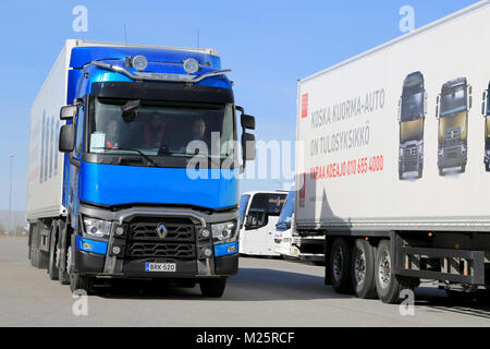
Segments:
[[[240,200],[240,253],[279,256],[274,252],[274,231],[286,191],[254,191]]]

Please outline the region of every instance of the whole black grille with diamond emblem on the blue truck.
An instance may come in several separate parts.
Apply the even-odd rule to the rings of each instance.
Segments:
[[[167,230],[163,238],[157,232],[160,225],[164,225]],[[195,258],[195,231],[188,218],[136,217],[130,222],[126,255],[132,258]]]

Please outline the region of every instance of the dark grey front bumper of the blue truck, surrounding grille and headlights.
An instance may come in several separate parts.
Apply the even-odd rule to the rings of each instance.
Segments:
[[[144,214],[132,215],[126,210],[119,217],[108,217],[112,213],[81,206],[82,215],[113,222],[105,241],[83,237],[77,229],[75,270],[114,278],[216,278],[236,274],[238,242],[215,244],[211,237],[200,234],[203,229],[210,230],[210,224],[234,219],[236,213],[201,215],[191,212],[187,215],[188,210],[155,208],[137,208],[137,212]],[[159,216],[159,212],[163,215]],[[179,214],[172,215],[175,213]],[[159,238],[154,229],[160,221],[169,228],[166,238]],[[118,227],[124,228],[122,236],[115,234]],[[120,248],[118,253],[114,246]],[[204,253],[208,249],[212,251],[210,255]],[[176,268],[175,272],[146,272],[146,263],[175,263]]]

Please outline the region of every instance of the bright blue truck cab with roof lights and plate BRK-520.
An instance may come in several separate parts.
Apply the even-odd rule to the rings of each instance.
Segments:
[[[59,132],[65,218],[48,266],[72,290],[170,278],[223,293],[238,266],[237,174],[255,158],[255,118],[220,65],[209,49],[72,48]]]

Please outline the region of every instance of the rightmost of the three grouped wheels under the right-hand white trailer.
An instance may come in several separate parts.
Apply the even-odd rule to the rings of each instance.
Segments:
[[[393,257],[390,241],[381,240],[377,248],[375,261],[376,291],[383,303],[397,304],[403,300],[400,294],[402,290],[413,290],[417,287],[418,279],[393,275],[392,268]]]

